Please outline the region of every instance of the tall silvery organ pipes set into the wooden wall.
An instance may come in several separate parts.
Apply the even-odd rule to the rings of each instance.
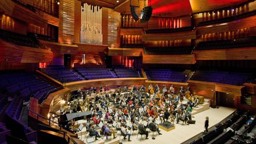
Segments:
[[[85,3],[81,9],[81,43],[102,44],[102,9]]]

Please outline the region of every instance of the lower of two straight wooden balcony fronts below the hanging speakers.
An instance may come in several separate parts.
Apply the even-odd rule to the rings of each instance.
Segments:
[[[165,63],[165,64],[195,64],[195,54],[180,55],[145,55],[143,63]]]

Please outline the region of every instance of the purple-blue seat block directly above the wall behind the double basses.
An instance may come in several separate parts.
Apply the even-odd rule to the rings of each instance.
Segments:
[[[187,77],[185,71],[173,71],[170,69],[146,69],[145,73],[150,81],[185,83]]]

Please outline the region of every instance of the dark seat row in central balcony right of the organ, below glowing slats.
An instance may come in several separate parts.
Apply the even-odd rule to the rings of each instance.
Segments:
[[[191,46],[145,47],[145,54],[190,54],[192,50]]]

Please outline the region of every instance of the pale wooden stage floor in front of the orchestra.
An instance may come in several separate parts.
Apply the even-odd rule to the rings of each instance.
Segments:
[[[210,108],[205,111],[202,111],[201,113],[195,114],[193,120],[196,121],[195,124],[182,124],[180,122],[179,124],[176,124],[175,122],[175,129],[169,132],[166,132],[164,130],[161,130],[162,135],[155,135],[155,140],[151,139],[152,138],[152,132],[149,133],[149,139],[145,140],[145,136],[142,136],[142,139],[140,141],[140,135],[138,136],[137,139],[137,132],[134,132],[133,135],[131,135],[131,142],[128,142],[127,139],[123,140],[123,143],[130,143],[130,144],[156,144],[156,143],[161,143],[161,144],[169,144],[169,143],[182,143],[185,142],[199,133],[202,133],[204,131],[204,121],[205,117],[209,116],[209,128],[214,126],[215,124],[218,124],[221,122],[223,119],[228,117],[230,114],[232,114],[236,109],[234,108],[227,108],[227,107],[219,107],[219,108]],[[148,129],[147,129],[148,130]],[[78,134],[79,135],[79,134]],[[84,140],[84,135],[82,135],[82,138]],[[117,134],[116,139],[111,139],[108,141],[105,141],[105,143],[117,143],[116,141],[119,139],[119,132]],[[115,142],[114,142],[115,141]],[[92,144],[96,143],[103,143],[103,140],[98,140],[95,142],[92,142]]]

